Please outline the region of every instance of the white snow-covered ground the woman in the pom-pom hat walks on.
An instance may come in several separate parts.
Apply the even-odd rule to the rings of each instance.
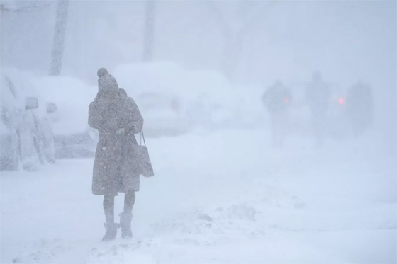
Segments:
[[[1,263],[396,263],[396,156],[368,137],[147,139],[156,176],[141,180],[134,238],[109,243],[93,159],[1,172]]]

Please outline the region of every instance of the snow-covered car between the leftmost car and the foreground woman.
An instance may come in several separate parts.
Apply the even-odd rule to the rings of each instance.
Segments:
[[[97,88],[68,76],[33,79],[40,101],[47,105],[55,140],[55,157],[94,156],[98,132],[88,125],[88,106]],[[55,111],[52,111],[56,108]]]

